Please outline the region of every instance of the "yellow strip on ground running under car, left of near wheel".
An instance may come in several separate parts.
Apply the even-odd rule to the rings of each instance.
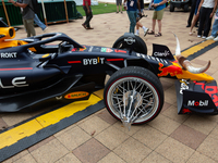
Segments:
[[[0,134],[0,149],[11,146],[19,140],[36,134],[36,131],[56,124],[61,120],[75,114],[78,111],[85,110],[87,106],[96,104],[101,99],[95,95],[90,95],[88,100],[76,101],[65,106],[38,116],[27,123]]]

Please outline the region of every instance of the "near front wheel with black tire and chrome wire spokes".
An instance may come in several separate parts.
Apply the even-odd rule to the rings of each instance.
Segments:
[[[134,106],[130,110],[128,106],[131,105],[131,96],[134,97],[134,102],[132,102]],[[119,110],[124,114],[124,109],[125,113],[135,109],[136,112],[133,115],[138,113],[141,117],[132,124],[144,124],[160,113],[164,104],[164,89],[158,77],[149,70],[129,66],[111,75],[105,87],[104,100],[107,110],[117,120],[122,121]]]

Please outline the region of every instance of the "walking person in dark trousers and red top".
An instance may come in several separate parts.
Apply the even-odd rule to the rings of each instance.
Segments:
[[[90,9],[90,0],[83,0],[83,10],[85,11],[86,20],[82,24],[85,29],[94,29],[90,27],[90,20],[93,18],[93,12]]]

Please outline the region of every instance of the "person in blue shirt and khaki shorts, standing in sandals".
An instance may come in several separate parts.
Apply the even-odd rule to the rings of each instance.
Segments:
[[[154,0],[154,3],[152,7],[155,9],[154,14],[153,14],[153,30],[147,33],[148,35],[155,35],[155,37],[160,37],[162,36],[161,34],[161,20],[164,16],[165,8],[166,8],[167,0]],[[156,25],[156,20],[158,23],[158,33],[155,34],[155,25]]]

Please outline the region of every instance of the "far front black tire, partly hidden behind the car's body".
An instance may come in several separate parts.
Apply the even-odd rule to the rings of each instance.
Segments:
[[[131,42],[128,43],[125,41],[125,39],[129,39],[129,38],[130,37],[125,35],[119,37],[113,43],[112,48],[131,50],[132,43],[135,43],[133,47],[133,51],[147,54],[147,46],[141,37],[133,35],[131,38],[133,38],[135,42],[132,42],[132,43]]]

